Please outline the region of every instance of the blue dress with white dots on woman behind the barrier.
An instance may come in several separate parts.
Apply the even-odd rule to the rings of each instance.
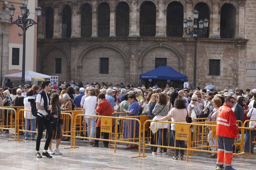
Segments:
[[[133,115],[126,114],[126,116],[138,116],[140,111],[140,105],[137,101],[132,102],[130,107],[128,108],[129,112],[132,112]],[[135,125],[135,135],[134,135],[134,121],[133,120],[124,120],[124,126],[123,126],[123,132],[124,132],[124,139],[130,139],[130,138],[138,138],[139,137],[139,130],[140,130],[140,124],[138,121],[136,121]]]

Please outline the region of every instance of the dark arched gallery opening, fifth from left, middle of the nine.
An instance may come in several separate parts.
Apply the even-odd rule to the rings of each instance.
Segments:
[[[116,36],[129,35],[130,8],[126,2],[121,2],[116,7]]]

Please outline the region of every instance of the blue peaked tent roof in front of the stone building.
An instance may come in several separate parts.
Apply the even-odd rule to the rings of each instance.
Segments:
[[[140,79],[188,81],[187,76],[180,74],[169,66],[159,66],[154,70],[141,74]]]

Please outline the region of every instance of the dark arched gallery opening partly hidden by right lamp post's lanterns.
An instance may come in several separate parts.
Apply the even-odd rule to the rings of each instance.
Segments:
[[[209,7],[208,7],[207,4],[205,4],[203,2],[200,2],[200,3],[196,4],[195,10],[197,10],[199,12],[198,19],[197,19],[198,22],[200,20],[204,20],[205,18],[207,18],[209,20],[207,33],[203,35],[204,38],[208,38],[209,37],[209,27],[210,27],[210,10],[209,10]],[[203,32],[205,32],[205,31],[203,30]]]

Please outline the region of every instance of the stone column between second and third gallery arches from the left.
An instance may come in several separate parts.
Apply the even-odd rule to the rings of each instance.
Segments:
[[[71,23],[71,38],[81,37],[81,12],[79,11],[79,7],[77,5],[73,5]]]

